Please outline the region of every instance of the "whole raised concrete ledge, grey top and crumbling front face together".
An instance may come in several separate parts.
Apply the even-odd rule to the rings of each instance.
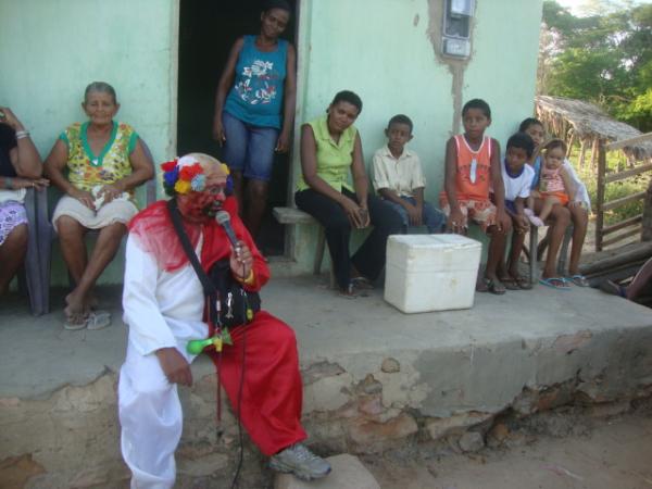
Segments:
[[[61,309],[34,319],[23,303],[3,306],[0,479],[13,471],[30,488],[126,484],[115,400],[126,341],[118,301],[102,304],[114,310],[111,328],[76,333],[62,329]],[[314,278],[294,278],[273,280],[263,302],[296,328],[309,444],[325,455],[451,437],[472,450],[478,436],[463,436],[479,432],[481,442],[506,409],[527,415],[652,392],[650,310],[591,289],[478,294],[473,310],[405,315],[380,290],[351,301]],[[230,480],[238,455],[230,412],[216,432],[210,361],[199,359],[193,375],[195,386],[180,389],[179,487]],[[269,480],[263,466],[247,442],[243,487]]]

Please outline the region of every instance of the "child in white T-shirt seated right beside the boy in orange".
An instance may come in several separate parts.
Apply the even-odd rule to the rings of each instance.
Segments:
[[[535,171],[526,164],[535,151],[535,141],[525,133],[516,133],[507,139],[505,156],[501,164],[505,186],[505,211],[512,218],[512,242],[507,261],[501,258],[498,277],[509,290],[531,289],[530,280],[521,275],[518,259],[523,251],[525,235],[530,228],[532,211],[525,204],[530,197]],[[529,214],[529,215],[528,215]]]

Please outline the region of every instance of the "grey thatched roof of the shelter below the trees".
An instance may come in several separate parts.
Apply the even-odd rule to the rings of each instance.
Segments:
[[[598,139],[606,142],[620,141],[640,136],[642,133],[628,124],[614,121],[599,106],[581,100],[562,97],[536,97],[537,117],[556,137],[570,142],[579,140],[590,146]],[[625,147],[626,154],[637,160],[652,156],[652,142],[640,142]]]

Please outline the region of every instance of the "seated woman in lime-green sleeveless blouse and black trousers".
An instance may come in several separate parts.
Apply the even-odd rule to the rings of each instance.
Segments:
[[[340,294],[352,298],[385,266],[389,235],[401,234],[401,216],[368,192],[360,134],[353,123],[362,100],[349,90],[338,92],[326,115],[301,126],[301,170],[294,202],[322,224]],[[349,184],[349,173],[353,185]],[[353,256],[351,229],[374,229]]]

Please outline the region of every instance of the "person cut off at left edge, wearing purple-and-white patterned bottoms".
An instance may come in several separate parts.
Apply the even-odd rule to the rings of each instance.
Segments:
[[[0,106],[0,296],[27,253],[26,189],[42,190],[42,163],[29,133],[8,106]]]

